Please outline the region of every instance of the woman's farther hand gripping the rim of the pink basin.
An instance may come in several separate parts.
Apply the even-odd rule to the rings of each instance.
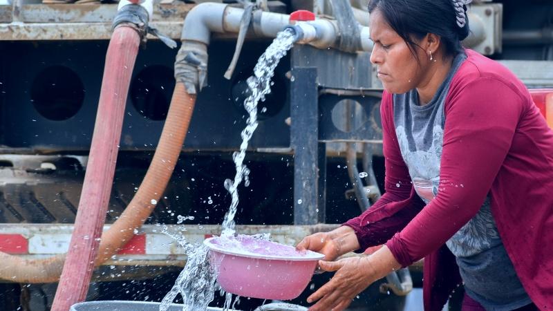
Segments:
[[[359,248],[359,241],[350,227],[339,227],[331,232],[319,232],[306,236],[296,246],[299,251],[310,251],[324,254],[324,260],[333,261],[338,256]]]

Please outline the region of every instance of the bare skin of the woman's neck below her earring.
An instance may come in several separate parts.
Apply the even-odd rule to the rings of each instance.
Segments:
[[[428,104],[434,97],[436,91],[442,82],[447,77],[449,70],[453,64],[453,57],[444,57],[436,55],[435,62],[429,62],[427,66],[430,66],[427,70],[426,79],[417,86],[417,92],[419,95],[420,106]]]

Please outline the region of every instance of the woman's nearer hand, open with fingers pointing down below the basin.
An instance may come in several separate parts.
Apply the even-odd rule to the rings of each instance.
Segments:
[[[317,292],[308,297],[308,303],[317,301],[310,311],[340,311],[348,308],[351,301],[375,279],[370,257],[350,257],[339,261],[319,261],[322,270],[336,274]]]

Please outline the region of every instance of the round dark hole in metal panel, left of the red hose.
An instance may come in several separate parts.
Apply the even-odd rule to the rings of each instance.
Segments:
[[[81,79],[70,68],[51,66],[32,82],[30,96],[35,109],[48,120],[67,120],[77,114],[84,100]]]

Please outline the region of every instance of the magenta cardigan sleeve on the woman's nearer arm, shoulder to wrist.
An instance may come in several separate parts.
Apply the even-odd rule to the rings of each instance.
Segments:
[[[438,195],[386,243],[403,266],[438,249],[476,215],[523,114],[523,97],[497,79],[474,79],[449,97]]]

